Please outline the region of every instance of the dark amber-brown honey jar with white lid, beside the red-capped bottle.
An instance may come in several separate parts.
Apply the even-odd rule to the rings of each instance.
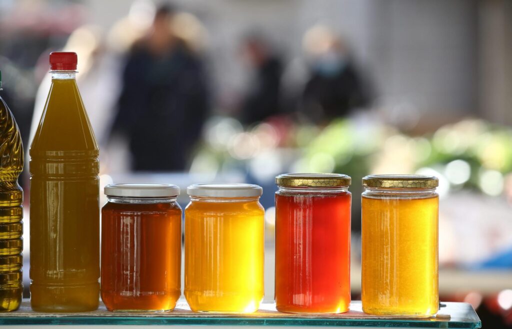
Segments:
[[[109,311],[173,310],[181,294],[180,189],[105,186],[101,209],[101,299]]]

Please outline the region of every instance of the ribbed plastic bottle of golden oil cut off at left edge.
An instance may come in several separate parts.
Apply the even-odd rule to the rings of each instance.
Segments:
[[[18,184],[22,170],[22,137],[0,97],[0,312],[15,311],[22,301],[23,190]]]

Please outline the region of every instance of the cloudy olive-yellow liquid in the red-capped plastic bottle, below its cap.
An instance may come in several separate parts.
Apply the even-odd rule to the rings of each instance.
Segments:
[[[30,148],[30,293],[35,311],[98,308],[98,154],[74,74],[54,73]]]

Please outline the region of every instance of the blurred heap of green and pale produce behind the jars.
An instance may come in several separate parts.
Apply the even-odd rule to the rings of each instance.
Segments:
[[[192,172],[238,170],[262,180],[283,172],[337,172],[352,177],[354,195],[368,174],[425,173],[440,178],[440,193],[473,189],[498,196],[512,172],[512,129],[474,119],[410,136],[370,121],[334,120],[322,128],[275,120],[244,129],[217,117],[206,136]]]

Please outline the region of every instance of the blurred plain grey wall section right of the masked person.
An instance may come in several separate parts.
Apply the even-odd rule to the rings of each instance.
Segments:
[[[476,111],[476,4],[372,1],[371,62],[384,97],[420,110]]]

